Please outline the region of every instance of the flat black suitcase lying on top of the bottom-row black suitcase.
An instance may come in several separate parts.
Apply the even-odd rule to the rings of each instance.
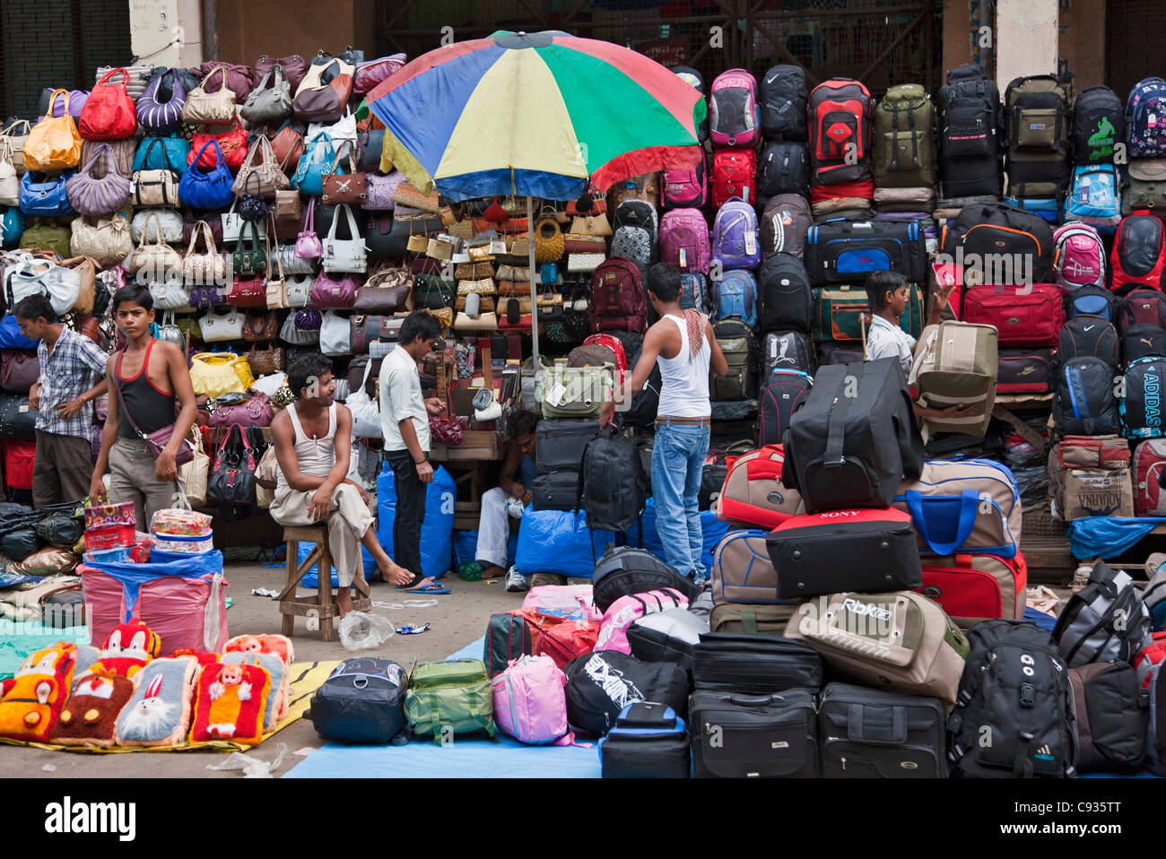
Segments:
[[[820,689],[822,657],[800,641],[750,633],[708,633],[693,649],[693,687],[743,695]]]

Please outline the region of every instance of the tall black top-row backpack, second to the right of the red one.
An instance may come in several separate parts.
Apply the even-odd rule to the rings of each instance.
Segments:
[[[999,196],[1000,92],[969,63],[948,72],[936,99],[940,177],[948,198]]]

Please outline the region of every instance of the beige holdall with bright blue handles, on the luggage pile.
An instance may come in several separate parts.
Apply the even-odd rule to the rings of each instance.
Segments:
[[[911,514],[921,551],[1011,558],[1020,544],[1020,491],[992,459],[928,459],[892,506]]]

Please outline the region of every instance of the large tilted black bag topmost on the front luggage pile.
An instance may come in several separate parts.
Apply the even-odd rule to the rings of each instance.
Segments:
[[[808,513],[887,507],[923,465],[923,443],[894,358],[820,367],[785,438],[781,481]]]

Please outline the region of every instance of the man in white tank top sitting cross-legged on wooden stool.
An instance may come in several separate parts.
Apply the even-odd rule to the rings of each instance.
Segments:
[[[360,569],[360,543],[377,562],[386,582],[402,585],[413,573],[393,563],[377,541],[368,493],[347,479],[352,456],[352,413],[335,402],[332,362],[308,354],[288,368],[288,387],[296,401],[272,421],[275,458],[280,464],[272,519],[305,527],[328,520],[328,545],[336,565],[343,618],[352,610],[352,579]],[[288,558],[288,564],[298,563]],[[319,586],[330,587],[330,571],[319,570]]]

